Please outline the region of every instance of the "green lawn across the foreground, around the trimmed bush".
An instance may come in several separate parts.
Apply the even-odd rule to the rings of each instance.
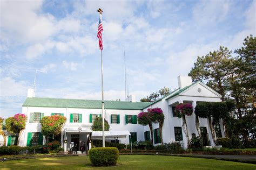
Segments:
[[[122,165],[92,167],[86,157],[54,157],[0,162],[0,169],[256,169],[256,165],[204,158],[120,155]],[[118,160],[118,163],[120,162]]]

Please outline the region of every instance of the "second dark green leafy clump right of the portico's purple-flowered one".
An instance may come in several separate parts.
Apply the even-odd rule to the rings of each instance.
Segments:
[[[228,110],[226,103],[223,102],[213,102],[212,103],[212,116],[215,119],[228,117]]]

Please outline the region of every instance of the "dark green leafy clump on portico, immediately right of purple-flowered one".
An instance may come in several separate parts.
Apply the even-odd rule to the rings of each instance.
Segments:
[[[210,102],[197,102],[194,114],[201,118],[208,118],[212,115],[212,104]]]

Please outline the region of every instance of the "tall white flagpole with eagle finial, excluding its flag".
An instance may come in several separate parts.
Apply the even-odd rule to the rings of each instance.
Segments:
[[[98,9],[100,20],[102,20],[102,10]],[[102,146],[105,147],[105,115],[104,115],[104,88],[103,88],[103,59],[102,49],[100,50],[100,59],[102,63]]]

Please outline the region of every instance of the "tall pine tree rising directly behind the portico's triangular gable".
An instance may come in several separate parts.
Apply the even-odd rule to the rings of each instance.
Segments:
[[[221,100],[225,100],[227,92],[227,78],[232,67],[233,59],[231,51],[226,47],[220,46],[219,50],[210,52],[205,56],[198,56],[197,62],[191,69],[189,76],[193,81],[202,81],[207,86],[218,91]]]

